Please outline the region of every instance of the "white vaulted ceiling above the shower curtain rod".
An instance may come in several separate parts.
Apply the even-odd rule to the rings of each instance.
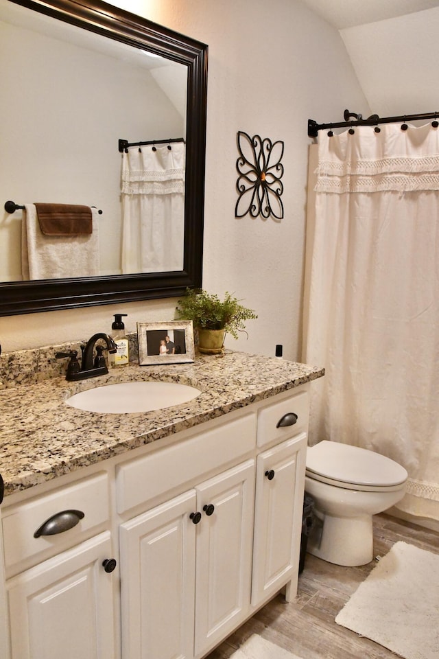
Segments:
[[[301,1],[340,31],[371,113],[439,111],[439,0]]]

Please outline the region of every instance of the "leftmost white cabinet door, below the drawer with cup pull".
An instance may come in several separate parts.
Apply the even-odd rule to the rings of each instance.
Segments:
[[[12,659],[115,657],[110,533],[7,582]]]

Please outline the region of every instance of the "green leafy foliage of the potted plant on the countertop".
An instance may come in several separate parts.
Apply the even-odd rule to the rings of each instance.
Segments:
[[[205,290],[188,288],[186,296],[178,300],[176,314],[178,319],[192,321],[197,329],[225,329],[238,338],[238,332],[246,332],[245,321],[258,317],[240,302],[229,292],[220,300]]]

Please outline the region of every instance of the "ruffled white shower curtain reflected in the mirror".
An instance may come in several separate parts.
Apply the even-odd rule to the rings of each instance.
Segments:
[[[182,270],[185,143],[132,147],[124,152],[121,200],[122,273]]]

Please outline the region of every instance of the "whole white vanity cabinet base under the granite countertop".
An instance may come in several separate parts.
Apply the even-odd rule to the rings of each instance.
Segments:
[[[6,659],[202,659],[294,597],[307,424],[301,386],[6,498]]]

